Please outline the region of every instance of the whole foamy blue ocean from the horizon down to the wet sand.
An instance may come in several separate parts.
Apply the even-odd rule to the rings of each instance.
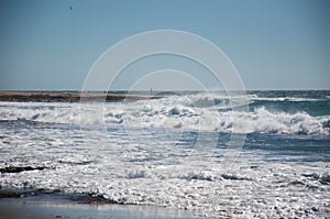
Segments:
[[[330,90],[248,91],[249,111],[226,92],[155,95],[0,102],[0,187],[207,218],[329,218]]]

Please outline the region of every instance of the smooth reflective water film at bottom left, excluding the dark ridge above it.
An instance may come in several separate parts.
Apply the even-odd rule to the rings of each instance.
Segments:
[[[15,219],[193,219],[186,210],[136,205],[79,204],[64,194],[4,198],[0,202],[2,218]]]

